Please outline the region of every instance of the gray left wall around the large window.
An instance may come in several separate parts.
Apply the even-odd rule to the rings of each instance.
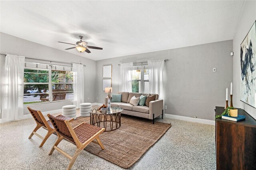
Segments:
[[[27,41],[12,35],[5,33],[0,33],[0,53],[1,54],[14,54],[14,55],[23,55],[25,57],[35,58],[35,59],[44,59],[49,61],[63,61],[63,62],[73,62],[85,64],[84,67],[84,84],[85,84],[85,95],[84,102],[93,103],[95,101],[95,67],[96,62],[85,57],[78,55],[70,54],[65,51],[54,49],[45,45],[34,43],[32,41]],[[85,53],[81,54],[86,56]],[[1,69],[4,67],[5,57],[1,55],[0,66]],[[40,61],[39,61],[40,62]],[[2,71],[1,71],[2,73]],[[2,74],[0,74],[2,80]],[[1,91],[0,91],[1,92]],[[2,93],[0,94],[2,95]],[[2,96],[0,96],[2,101]],[[90,100],[88,100],[90,98]],[[39,104],[33,105],[33,108],[40,109],[41,111],[51,111],[56,109],[61,109],[62,106],[73,104],[73,101],[65,102],[56,102],[52,104]],[[2,105],[1,105],[2,106]],[[26,106],[27,107],[27,106]],[[28,109],[24,107],[24,114],[29,114]],[[2,109],[2,108],[1,108]]]

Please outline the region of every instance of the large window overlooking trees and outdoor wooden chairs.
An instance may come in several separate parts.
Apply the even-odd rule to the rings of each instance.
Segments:
[[[27,67],[24,69],[24,105],[73,99],[71,67],[68,71],[63,67],[63,70],[56,70],[56,66],[54,68],[55,70]]]

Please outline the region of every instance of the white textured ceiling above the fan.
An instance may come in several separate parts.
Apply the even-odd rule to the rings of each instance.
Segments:
[[[233,39],[244,1],[1,1],[0,31],[100,60]],[[64,50],[78,35],[92,53]]]

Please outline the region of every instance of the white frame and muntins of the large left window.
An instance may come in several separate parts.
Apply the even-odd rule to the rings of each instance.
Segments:
[[[71,67],[72,68],[72,67]],[[48,82],[24,82],[25,84],[48,84],[48,93],[44,92],[44,93],[33,93],[34,94],[48,94],[49,96],[49,101],[48,102],[37,102],[37,103],[31,103],[31,104],[24,104],[23,102],[23,106],[30,106],[30,105],[38,105],[38,104],[49,104],[49,103],[55,103],[55,102],[66,102],[66,101],[72,101],[74,100],[74,89],[72,91],[67,91],[67,92],[73,92],[73,99],[65,99],[65,100],[52,100],[53,97],[53,93],[58,93],[58,92],[52,92],[52,85],[53,84],[74,84],[74,79],[73,82],[58,82],[58,83],[52,83],[52,71],[55,69],[49,69],[49,68],[31,68],[31,67],[24,67],[24,70],[44,70],[44,71],[48,71]],[[57,71],[61,71],[61,70],[57,70]],[[73,72],[73,71],[72,71]],[[29,74],[47,74],[47,73],[30,73],[30,72],[24,72],[25,73],[29,73]],[[63,74],[64,75],[64,74]],[[74,74],[72,74],[73,76]],[[24,96],[27,96],[29,94],[24,94],[23,93],[23,98]],[[30,94],[31,95],[31,94]]]

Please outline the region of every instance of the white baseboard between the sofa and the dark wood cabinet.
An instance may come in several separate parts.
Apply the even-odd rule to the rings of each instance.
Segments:
[[[203,123],[207,125],[215,125],[214,120],[208,120],[208,119],[198,119],[194,117],[186,117],[186,116],[171,115],[171,114],[164,114],[164,117],[171,118],[171,119],[184,120],[184,121],[192,121],[196,123]]]

